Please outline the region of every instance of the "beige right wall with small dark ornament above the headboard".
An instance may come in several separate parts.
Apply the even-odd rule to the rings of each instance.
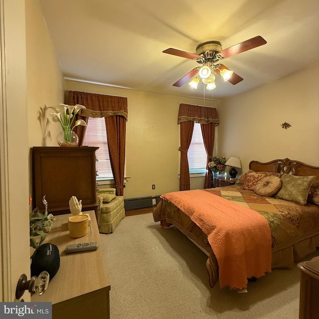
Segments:
[[[319,64],[220,101],[219,154],[319,166]],[[281,124],[288,122],[285,130]]]

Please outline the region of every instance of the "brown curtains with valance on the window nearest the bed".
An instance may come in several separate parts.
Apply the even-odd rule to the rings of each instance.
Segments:
[[[193,134],[194,122],[201,124],[201,132],[203,135],[204,146],[207,154],[204,188],[211,187],[211,171],[210,169],[208,169],[208,160],[212,157],[213,154],[215,126],[219,124],[217,110],[213,107],[180,104],[177,120],[177,124],[180,124],[179,190],[190,189],[187,151]]]

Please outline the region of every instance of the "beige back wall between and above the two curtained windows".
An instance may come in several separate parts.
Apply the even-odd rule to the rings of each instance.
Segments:
[[[179,103],[203,105],[202,99],[167,96],[67,80],[66,90],[125,96],[129,118],[126,132],[125,198],[179,190]],[[211,102],[205,101],[206,105]],[[152,189],[152,184],[156,189]],[[191,178],[202,188],[203,178]],[[197,186],[197,184],[201,184]]]

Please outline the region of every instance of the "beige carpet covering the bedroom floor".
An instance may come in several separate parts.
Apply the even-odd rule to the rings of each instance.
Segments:
[[[299,318],[297,266],[273,270],[238,294],[210,288],[206,255],[174,226],[161,228],[152,214],[127,216],[101,238],[111,319]]]

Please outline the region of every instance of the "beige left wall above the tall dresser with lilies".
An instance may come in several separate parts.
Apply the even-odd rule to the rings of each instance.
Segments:
[[[40,107],[64,103],[63,76],[55,48],[38,0],[26,0],[26,63],[27,63],[27,108],[29,147],[41,145],[41,127],[37,119]],[[50,118],[48,110],[47,115]],[[51,140],[47,146],[58,146],[56,135],[61,131],[52,123]]]

